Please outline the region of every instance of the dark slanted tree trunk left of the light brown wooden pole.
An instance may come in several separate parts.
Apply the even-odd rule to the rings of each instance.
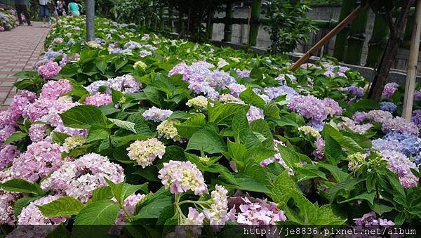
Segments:
[[[373,83],[371,84],[370,92],[368,93],[368,98],[371,98],[376,102],[378,102],[382,97],[383,88],[385,88],[387,78],[389,77],[390,68],[392,67],[394,58],[398,53],[399,43],[401,41],[403,30],[405,29],[406,18],[408,16],[409,8],[411,5],[413,5],[413,0],[403,1],[401,11],[399,12],[399,15],[394,23],[392,22],[392,13],[390,13],[391,15],[389,16],[389,27],[391,29],[389,41],[387,41],[387,46],[385,48],[385,52],[383,53],[382,61],[377,67],[377,72],[373,79]]]

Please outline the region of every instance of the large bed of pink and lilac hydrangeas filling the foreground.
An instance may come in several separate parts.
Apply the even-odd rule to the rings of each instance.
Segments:
[[[420,220],[421,113],[399,117],[403,88],[388,84],[378,104],[333,62],[292,74],[282,58],[96,25],[86,43],[83,20],[61,18],[44,59],[18,74],[0,114],[1,223],[196,237]]]

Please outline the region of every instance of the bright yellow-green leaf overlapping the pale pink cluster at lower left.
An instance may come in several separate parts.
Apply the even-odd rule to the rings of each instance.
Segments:
[[[48,217],[58,217],[58,216],[72,216],[77,215],[81,209],[83,209],[83,204],[78,199],[73,197],[65,196],[59,197],[54,201],[49,202],[38,206],[39,211]]]

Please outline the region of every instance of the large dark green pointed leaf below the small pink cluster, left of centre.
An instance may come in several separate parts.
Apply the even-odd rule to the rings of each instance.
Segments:
[[[66,112],[60,113],[60,117],[65,126],[73,128],[91,128],[94,124],[107,125],[107,117],[98,109],[91,105],[79,105],[72,107]]]

